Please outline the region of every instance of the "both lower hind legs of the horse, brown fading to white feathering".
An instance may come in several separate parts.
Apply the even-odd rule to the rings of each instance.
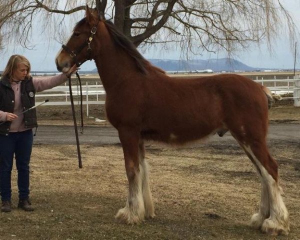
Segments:
[[[253,143],[255,142],[255,143]],[[261,200],[258,213],[251,217],[251,225],[260,227],[271,235],[287,234],[288,212],[284,205],[278,184],[276,161],[270,156],[265,140],[241,143],[261,177]]]

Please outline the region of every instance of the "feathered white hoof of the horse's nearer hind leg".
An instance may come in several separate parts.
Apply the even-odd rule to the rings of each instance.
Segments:
[[[279,223],[277,220],[267,218],[261,225],[261,230],[269,235],[287,235],[289,231],[288,222]]]

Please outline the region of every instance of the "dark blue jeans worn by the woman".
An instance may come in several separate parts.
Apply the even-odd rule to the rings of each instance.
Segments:
[[[29,161],[33,143],[32,129],[0,135],[0,195],[1,200],[11,198],[11,169],[13,154],[17,169],[19,199],[29,195]]]

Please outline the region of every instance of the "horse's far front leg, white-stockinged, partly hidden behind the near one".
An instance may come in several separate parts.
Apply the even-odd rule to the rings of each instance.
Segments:
[[[148,182],[148,164],[145,160],[145,149],[143,141],[141,140],[139,143],[139,169],[142,179],[142,197],[145,207],[145,217],[154,217],[154,206],[151,191],[149,188]]]

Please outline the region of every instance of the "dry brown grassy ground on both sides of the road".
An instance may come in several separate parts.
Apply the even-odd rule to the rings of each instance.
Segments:
[[[105,118],[102,106],[90,112]],[[277,105],[270,121],[299,122],[299,112],[291,104]],[[40,124],[71,124],[70,106],[41,106],[38,119]],[[85,120],[98,124],[94,118]],[[81,145],[81,169],[76,146],[34,144],[30,189],[36,209],[16,208],[14,168],[13,209],[0,213],[0,239],[300,239],[300,137],[273,139],[269,146],[290,213],[288,236],[267,236],[248,225],[259,206],[259,178],[237,143],[225,141],[177,148],[147,143],[156,216],[139,225],[114,221],[127,197],[119,144]]]

